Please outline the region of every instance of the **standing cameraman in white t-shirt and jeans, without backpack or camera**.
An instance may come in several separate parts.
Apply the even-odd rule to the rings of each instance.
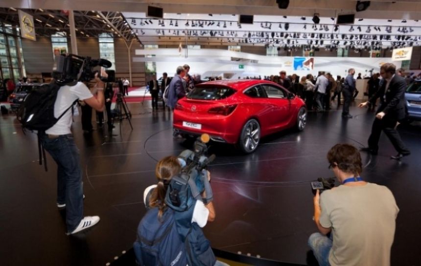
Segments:
[[[101,76],[107,77],[101,68]],[[77,99],[85,101],[97,111],[104,109],[104,82],[98,73],[95,74],[97,89],[96,98],[82,82],[74,86],[62,86],[58,90],[57,99],[54,103],[54,116],[58,117],[65,112]],[[46,130],[41,136],[41,142],[45,150],[57,163],[57,206],[66,207],[67,234],[74,234],[87,229],[97,222],[98,216],[83,217],[83,186],[82,169],[80,164],[79,150],[77,149],[70,131],[72,114],[70,111]]]

